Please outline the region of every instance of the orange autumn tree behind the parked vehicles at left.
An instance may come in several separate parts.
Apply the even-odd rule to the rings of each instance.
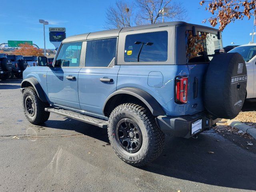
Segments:
[[[43,50],[38,49],[28,43],[19,44],[20,48],[16,49],[13,54],[15,55],[32,55],[32,56],[43,56]]]

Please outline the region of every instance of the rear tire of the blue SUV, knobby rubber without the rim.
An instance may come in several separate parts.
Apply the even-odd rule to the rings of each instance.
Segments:
[[[142,144],[137,152],[130,153],[122,148],[116,136],[118,122],[129,118],[136,122],[142,133]],[[165,135],[158,128],[155,117],[142,104],[125,103],[117,106],[108,120],[108,138],[117,156],[127,164],[140,167],[152,162],[164,148]]]

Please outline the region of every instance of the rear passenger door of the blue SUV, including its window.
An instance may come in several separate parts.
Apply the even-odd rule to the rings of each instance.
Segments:
[[[88,40],[85,67],[79,72],[78,89],[82,110],[103,115],[106,98],[116,90],[120,66],[115,65],[117,38]]]

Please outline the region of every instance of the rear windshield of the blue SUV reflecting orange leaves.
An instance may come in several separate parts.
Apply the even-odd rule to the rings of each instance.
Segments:
[[[192,31],[186,31],[187,63],[210,62],[214,50],[222,48],[222,41],[216,34],[197,32],[197,36],[193,36]]]

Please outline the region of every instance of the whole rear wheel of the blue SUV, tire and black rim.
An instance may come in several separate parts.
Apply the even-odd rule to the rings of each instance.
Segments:
[[[160,156],[165,140],[148,108],[134,103],[121,104],[112,111],[108,137],[118,157],[137,167]]]

